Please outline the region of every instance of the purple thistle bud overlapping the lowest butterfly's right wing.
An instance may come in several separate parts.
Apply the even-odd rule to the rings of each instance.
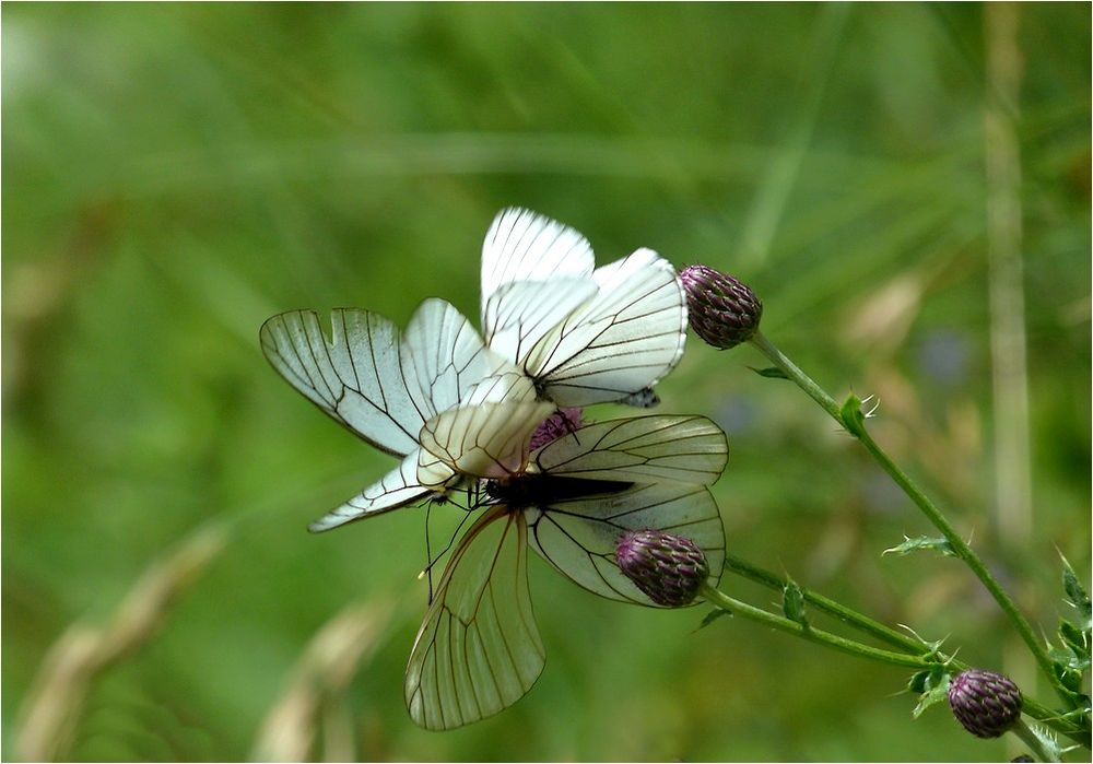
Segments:
[[[697,544],[660,530],[624,533],[615,545],[615,562],[650,600],[668,608],[691,604],[709,575]]]

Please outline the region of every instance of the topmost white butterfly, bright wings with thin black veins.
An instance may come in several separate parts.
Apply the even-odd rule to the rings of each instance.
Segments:
[[[683,354],[683,285],[651,249],[593,267],[576,231],[502,210],[482,246],[485,342],[560,407],[654,405],[653,386]]]

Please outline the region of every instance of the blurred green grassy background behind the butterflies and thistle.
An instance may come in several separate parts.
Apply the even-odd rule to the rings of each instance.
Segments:
[[[765,333],[833,395],[879,396],[878,440],[1050,632],[1056,550],[1083,577],[1090,561],[1090,7],[1002,9],[1013,34],[998,10],[5,4],[3,757],[62,718],[52,755],[75,760],[1020,752],[941,706],[913,721],[904,672],[745,622],[698,631],[703,609],[607,602],[538,559],[538,685],[481,724],[419,730],[401,686],[424,512],[307,534],[392,460],[258,346],[297,307],[404,324],[443,295],[477,316],[482,236],[508,204],[581,231],[601,263],[639,246],[709,263],[755,287]],[[1007,145],[1020,186],[986,169]],[[988,203],[1007,198],[992,238]],[[1023,289],[992,310],[1007,246]],[[1027,346],[1018,463],[996,446],[1006,326]],[[689,348],[661,411],[728,431],[730,549],[1034,687],[960,564],[881,556],[930,529],[860,448],[752,374],[752,349]],[[1031,501],[999,497],[996,473],[1023,467]],[[173,588],[162,613],[115,620]],[[28,714],[62,635],[60,680]]]

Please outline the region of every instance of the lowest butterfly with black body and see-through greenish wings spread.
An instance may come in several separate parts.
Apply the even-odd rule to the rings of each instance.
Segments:
[[[458,433],[456,422],[467,415],[449,410],[427,422],[423,458],[428,452],[456,469],[461,436],[447,434]],[[508,707],[538,679],[545,653],[528,591],[529,545],[589,591],[657,607],[614,563],[622,533],[656,528],[698,544],[716,584],[725,531],[705,486],[727,457],[725,434],[709,420],[643,416],[575,430],[520,470],[486,482],[485,512],[453,552],[410,655],[413,720],[460,727]]]

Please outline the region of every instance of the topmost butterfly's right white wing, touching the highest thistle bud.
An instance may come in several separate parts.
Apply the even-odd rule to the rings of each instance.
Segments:
[[[683,354],[686,299],[670,262],[638,249],[592,278],[596,296],[520,359],[562,407],[643,396]]]

